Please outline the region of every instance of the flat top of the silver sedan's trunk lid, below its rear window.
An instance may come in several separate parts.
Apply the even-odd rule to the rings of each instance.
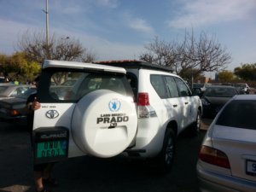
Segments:
[[[230,126],[214,125],[212,139],[242,141],[256,144],[256,130],[234,128]]]

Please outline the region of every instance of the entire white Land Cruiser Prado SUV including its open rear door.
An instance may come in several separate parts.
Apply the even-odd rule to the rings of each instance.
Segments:
[[[44,61],[34,116],[36,162],[121,153],[169,171],[175,138],[201,125],[201,100],[168,67],[144,61]],[[114,67],[113,67],[114,66]],[[74,80],[71,86],[61,85]]]

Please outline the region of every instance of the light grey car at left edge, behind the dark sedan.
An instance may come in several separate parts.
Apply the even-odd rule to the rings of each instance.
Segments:
[[[0,100],[8,98],[8,97],[14,97],[22,95],[26,92],[26,90],[30,89],[32,85],[29,84],[9,84],[9,83],[3,83],[0,84]]]

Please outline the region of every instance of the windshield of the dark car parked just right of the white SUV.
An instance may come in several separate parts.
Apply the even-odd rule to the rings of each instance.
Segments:
[[[208,87],[204,96],[232,97],[237,94],[236,89],[231,87]]]

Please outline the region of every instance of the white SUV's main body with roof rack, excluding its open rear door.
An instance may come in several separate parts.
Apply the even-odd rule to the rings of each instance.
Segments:
[[[163,171],[170,171],[176,137],[185,129],[195,136],[200,131],[202,105],[188,84],[170,67],[145,61],[97,61],[124,67],[137,98],[138,129],[136,145],[126,151],[151,157]]]

